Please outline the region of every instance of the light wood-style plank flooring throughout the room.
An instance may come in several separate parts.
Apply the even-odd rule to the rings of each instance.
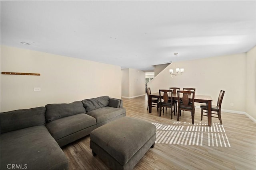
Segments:
[[[157,127],[155,147],[149,149],[134,170],[255,170],[256,124],[246,115],[222,112],[223,125],[207,117],[200,121],[196,109],[194,125],[190,112],[170,118],[170,109],[159,117],[156,107],[147,110],[147,98],[123,98],[126,115],[154,123]],[[143,132],[142,132],[143,133]],[[92,156],[90,136],[62,147],[68,157],[70,170],[109,170]]]

